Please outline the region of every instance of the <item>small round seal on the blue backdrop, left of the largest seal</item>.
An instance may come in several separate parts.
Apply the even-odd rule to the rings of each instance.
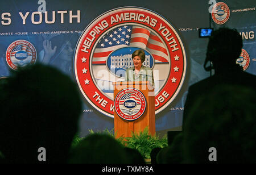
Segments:
[[[36,49],[26,40],[16,40],[9,45],[6,51],[6,61],[11,69],[17,70],[36,61]]]

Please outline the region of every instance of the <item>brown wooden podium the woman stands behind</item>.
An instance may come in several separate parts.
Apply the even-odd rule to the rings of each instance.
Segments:
[[[121,82],[113,82],[114,85],[114,131],[116,134],[116,138],[121,136],[123,137],[131,137],[131,133],[139,133],[144,130],[144,128],[148,127],[148,131],[150,135],[155,135],[155,95],[154,95],[154,87],[148,81],[121,81]],[[138,119],[127,120],[121,118],[121,114],[118,111],[118,103],[116,101],[116,97],[121,96],[119,94],[125,94],[125,91],[129,89],[130,91],[135,89],[139,90],[146,99],[146,107],[144,108],[143,115],[141,115]],[[138,92],[138,91],[137,91]],[[141,95],[142,96],[142,95]],[[121,98],[122,99],[122,98]],[[130,102],[130,101],[129,101]],[[139,102],[138,102],[139,103]],[[142,105],[141,105],[142,106]],[[121,107],[120,107],[121,108]],[[123,107],[125,108],[125,107]],[[127,110],[128,111],[128,110]]]

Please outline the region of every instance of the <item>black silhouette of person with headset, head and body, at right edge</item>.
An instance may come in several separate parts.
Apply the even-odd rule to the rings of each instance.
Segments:
[[[236,64],[242,46],[236,30],[220,28],[210,36],[204,68],[214,75],[189,87],[183,163],[210,163],[211,147],[217,163],[255,163],[255,76]]]

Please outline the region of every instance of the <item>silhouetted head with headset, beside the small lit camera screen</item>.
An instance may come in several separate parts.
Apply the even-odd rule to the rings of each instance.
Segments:
[[[207,47],[205,70],[210,70],[210,67],[206,68],[208,61],[212,61],[214,69],[236,66],[242,47],[242,36],[237,30],[220,28],[213,31]]]

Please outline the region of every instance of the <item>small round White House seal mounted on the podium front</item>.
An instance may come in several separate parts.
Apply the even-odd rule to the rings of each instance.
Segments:
[[[127,88],[119,91],[114,100],[115,111],[125,120],[140,118],[146,109],[146,99],[141,91]]]

